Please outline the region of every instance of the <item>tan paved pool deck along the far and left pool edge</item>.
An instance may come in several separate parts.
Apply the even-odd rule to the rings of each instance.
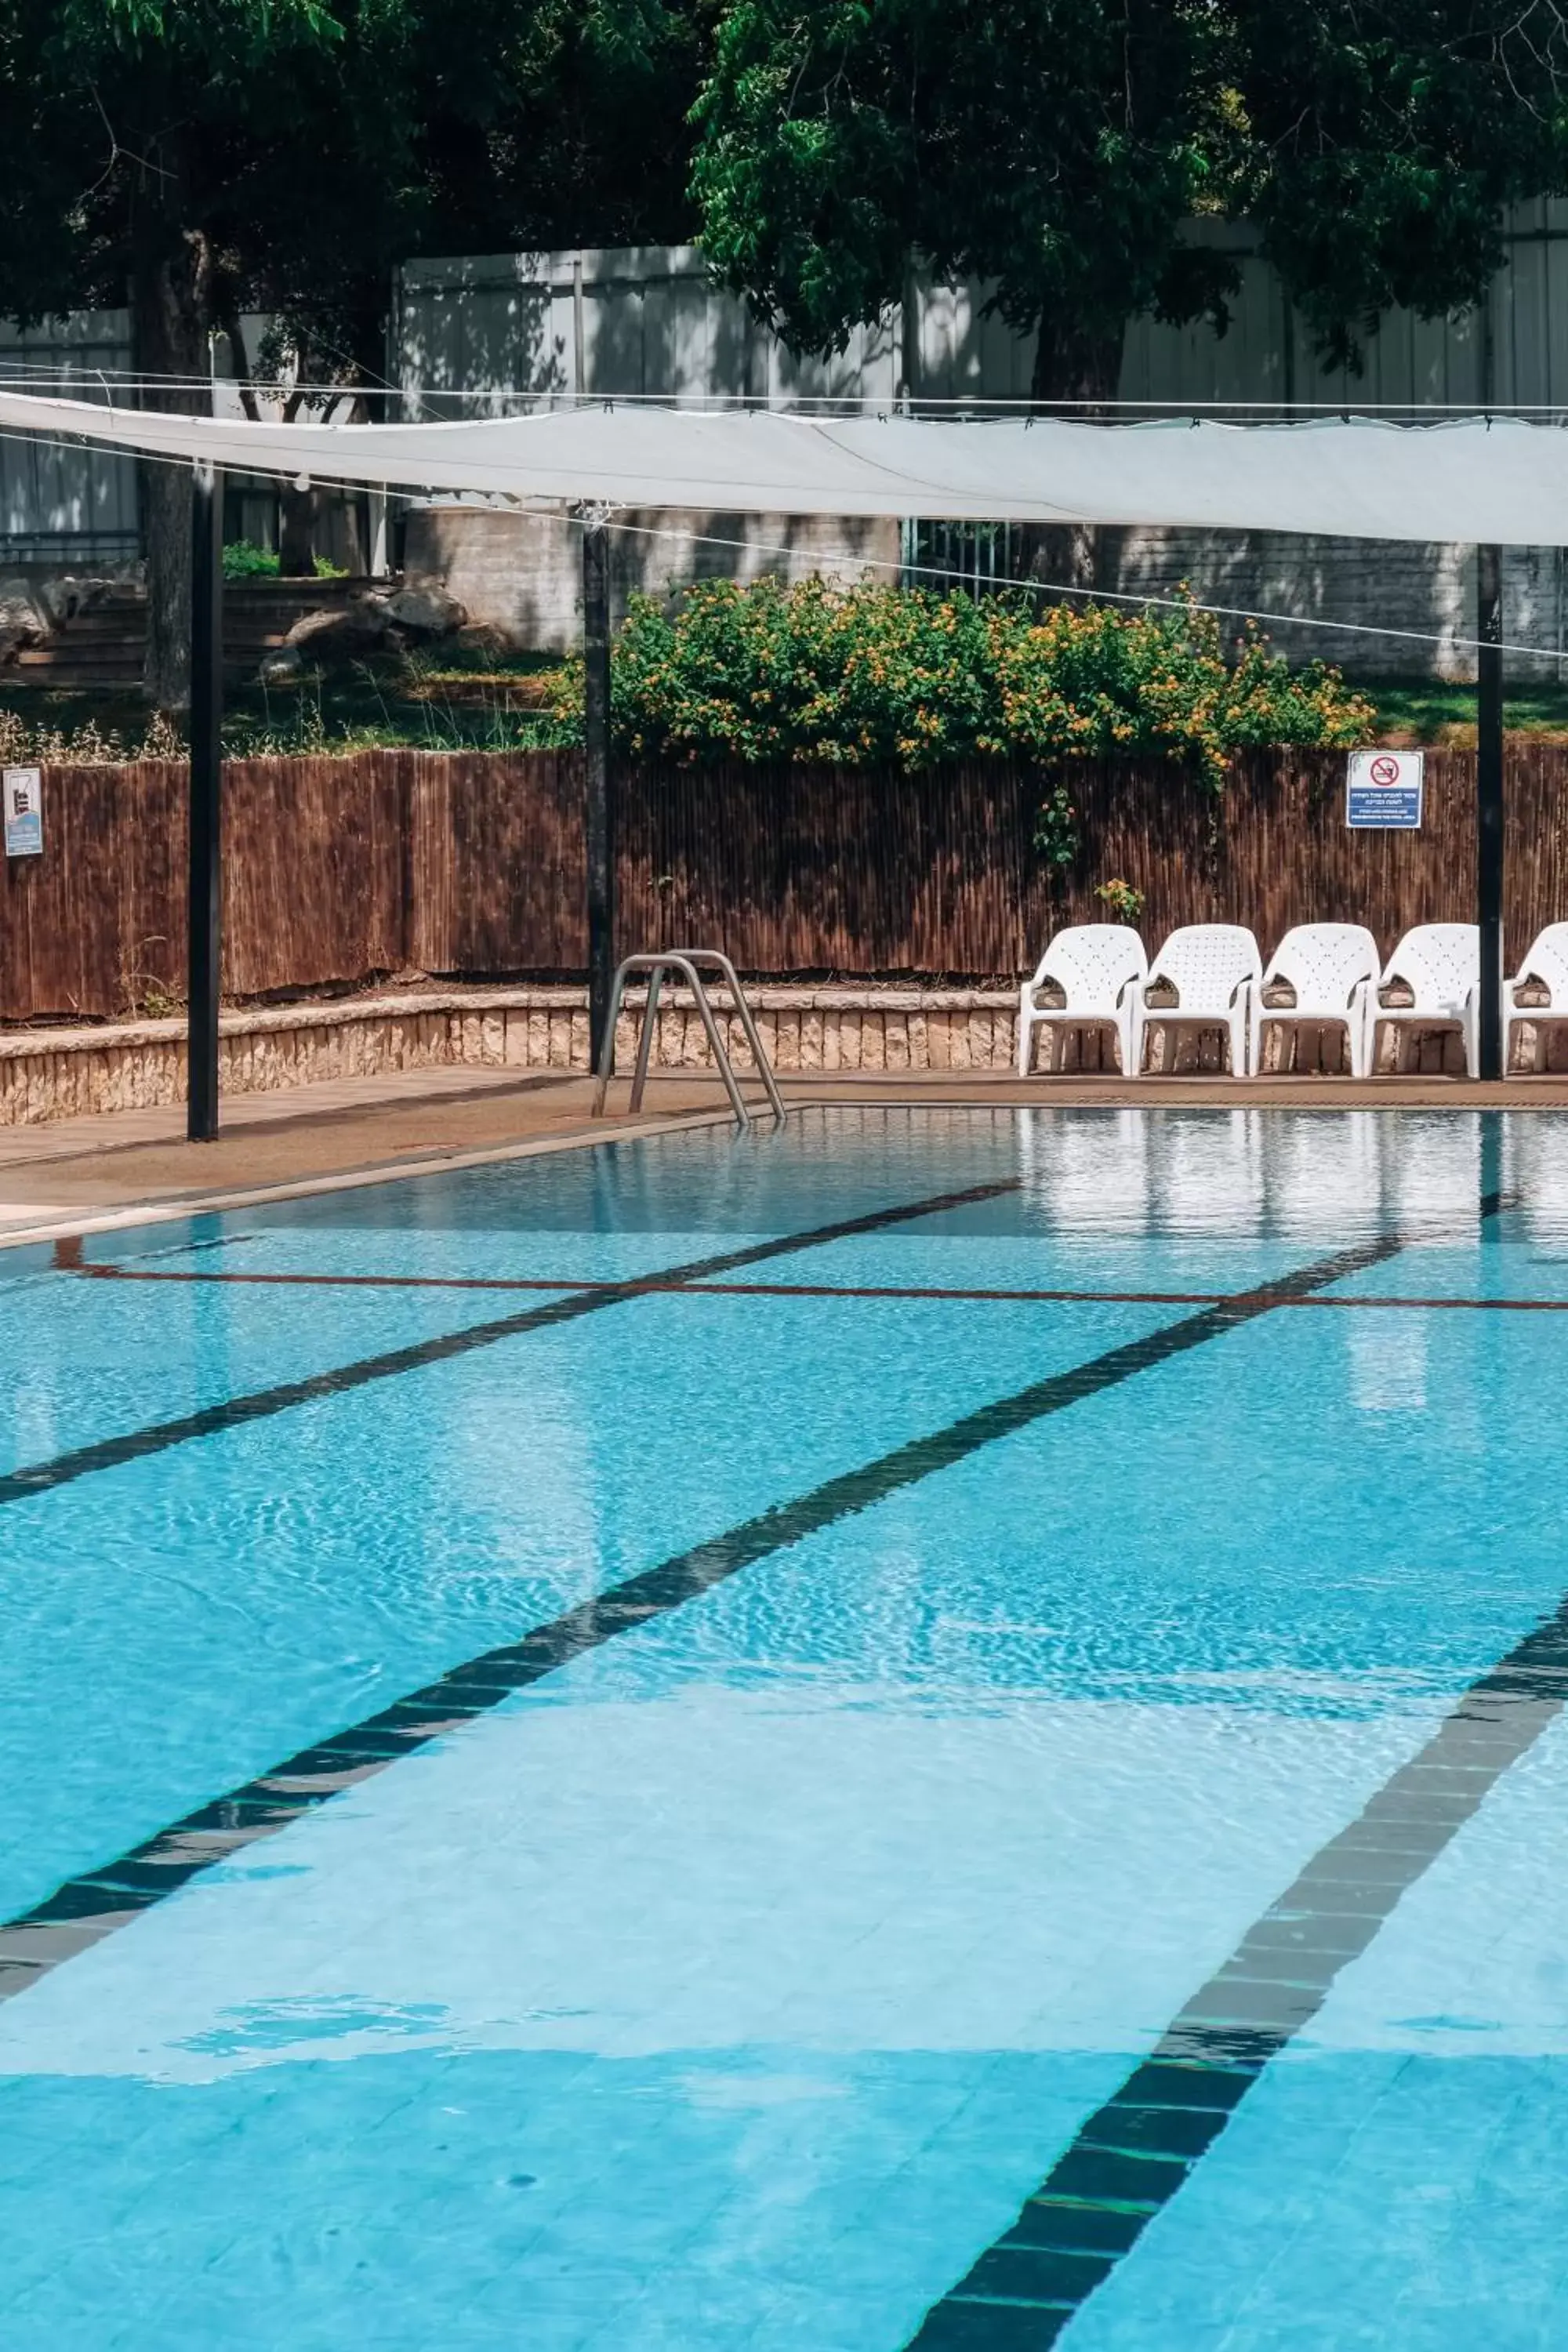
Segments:
[[[750,1087],[750,1094],[757,1089]],[[783,1080],[790,1103],[945,1103],[1206,1110],[1568,1110],[1568,1077],[1472,1084],[1453,1077],[971,1077],[860,1073]],[[183,1141],[183,1110],[110,1110],[0,1129],[0,1247],[129,1225],[197,1207],[244,1207],[294,1192],[475,1167],[611,1136],[726,1120],[717,1080],[651,1077],[644,1112],[611,1089],[592,1120],[592,1082],[515,1070],[407,1070],[336,1080],[223,1105],[216,1143]]]

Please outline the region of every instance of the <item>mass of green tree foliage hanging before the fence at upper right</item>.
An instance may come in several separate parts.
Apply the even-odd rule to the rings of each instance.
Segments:
[[[715,270],[802,350],[910,263],[1037,336],[1034,400],[1117,390],[1140,313],[1225,325],[1251,216],[1324,350],[1479,301],[1566,176],[1556,0],[731,0],[698,101]]]

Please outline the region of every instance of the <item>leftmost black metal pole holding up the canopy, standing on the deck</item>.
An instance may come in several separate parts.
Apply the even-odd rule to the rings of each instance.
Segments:
[[[223,906],[223,475],[193,468],[190,501],[190,913],[186,1134],[219,1134],[219,922]]]

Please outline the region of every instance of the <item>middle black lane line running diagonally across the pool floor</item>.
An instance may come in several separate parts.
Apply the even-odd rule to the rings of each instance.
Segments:
[[[317,1740],[226,1797],[186,1813],[183,1820],[132,1846],[115,1863],[66,1879],[33,1910],[5,1922],[0,1926],[0,1999],[26,1992],[49,1969],[85,1952],[115,1929],[129,1926],[153,1903],[193,1879],[197,1870],[221,1863],[259,1837],[287,1830],[292,1820],[336,1797],[339,1790],[386,1771],[388,1764],[414,1755],[442,1733],[461,1731],[463,1724],[501,1705],[503,1698],[555,1675],[571,1658],[614,1642],[616,1635],[635,1632],[668,1609],[679,1609],[682,1602],[696,1599],[752,1566],[752,1562],[783,1552],[837,1519],[870,1510],[872,1503],[966,1461],[999,1437],[1011,1437],[1048,1414],[1065,1411],[1081,1397],[1098,1397],[1100,1390],[1117,1388],[1138,1371],[1168,1364],[1173,1357],[1267,1315],[1279,1296],[1298,1296],[1340,1282],[1363,1265],[1394,1256],[1401,1247],[1403,1237],[1392,1235],[1342,1249],[1272,1282],[1267,1291],[1239,1291],[1220,1305],[1204,1308],[1201,1315],[1187,1315],[1182,1322],[1164,1324],[1145,1338],[1110,1348],[1070,1371],[1032,1381],[1030,1388],[1020,1388],[1011,1397],[964,1414],[945,1430],[914,1437],[858,1470],[825,1479],[790,1503],[771,1505],[755,1519],[731,1526],[724,1536],[710,1536],[708,1543],[677,1552],[656,1569],[628,1576],[625,1583],[581,1602],[548,1625],[536,1625],[522,1642],[468,1658],[425,1684],[423,1691],[411,1691],[378,1715]]]

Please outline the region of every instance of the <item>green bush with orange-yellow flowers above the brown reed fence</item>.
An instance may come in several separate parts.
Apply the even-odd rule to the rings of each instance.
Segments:
[[[1213,614],[1180,602],[973,602],[926,588],[705,581],[675,612],[632,597],[611,661],[623,750],[656,757],[889,760],[1161,753],[1211,783],[1246,743],[1361,743],[1375,720],[1338,670],[1293,670],[1248,626],[1227,659]],[[555,727],[581,736],[583,668]]]

